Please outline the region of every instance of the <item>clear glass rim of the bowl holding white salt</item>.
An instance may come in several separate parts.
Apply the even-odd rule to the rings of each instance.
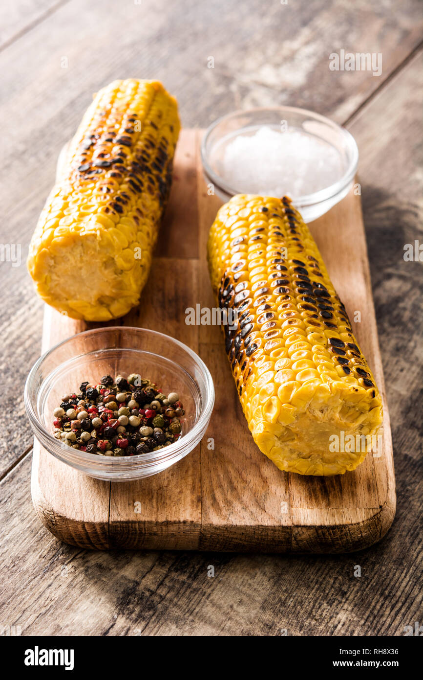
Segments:
[[[322,116],[321,114],[317,114],[314,111],[310,111],[310,109],[303,109],[301,107],[297,106],[285,106],[285,105],[280,105],[280,106],[257,106],[253,107],[251,109],[237,109],[236,111],[233,111],[230,114],[225,114],[224,116],[220,116],[215,120],[213,123],[211,123],[206,131],[204,132],[204,135],[202,137],[201,141],[201,148],[200,148],[200,155],[201,155],[201,160],[202,160],[202,166],[204,169],[204,173],[206,174],[206,177],[208,179],[213,181],[213,184],[216,184],[219,189],[221,189],[223,192],[228,194],[229,196],[235,196],[236,194],[246,194],[246,192],[242,192],[238,189],[235,189],[234,187],[230,186],[225,180],[223,180],[223,177],[220,175],[217,175],[213,169],[210,167],[210,164],[208,163],[208,154],[206,151],[206,146],[207,146],[207,141],[208,138],[210,137],[210,134],[213,132],[213,130],[224,120],[230,120],[231,118],[236,118],[236,116],[241,116],[245,114],[253,114],[257,112],[275,112],[275,111],[281,111],[281,112],[290,112],[290,113],[296,113],[296,114],[302,114],[304,116],[308,116],[312,118],[313,120],[317,120],[318,122],[322,122],[326,124],[327,126],[331,127],[332,129],[336,130],[337,132],[341,133],[341,135],[344,137],[346,140],[346,147],[348,148],[349,154],[350,154],[350,162],[348,164],[348,167],[342,177],[337,180],[337,182],[333,182],[333,184],[330,184],[329,186],[319,189],[318,191],[312,192],[311,194],[303,194],[302,196],[297,196],[297,197],[290,197],[291,200],[293,201],[294,205],[297,205],[299,208],[300,207],[306,207],[309,205],[314,205],[316,203],[322,203],[323,201],[327,201],[333,197],[335,197],[338,193],[342,192],[344,188],[350,182],[352,182],[354,175],[356,174],[357,167],[358,167],[358,146],[357,143],[352,136],[350,132],[346,128],[344,128],[342,125],[339,125],[338,123],[335,123],[331,118],[327,118],[326,116]],[[263,123],[265,125],[265,123]],[[242,130],[242,128],[239,128],[239,130]],[[251,194],[251,195],[256,195],[256,194]],[[279,197],[280,198],[280,197]]]

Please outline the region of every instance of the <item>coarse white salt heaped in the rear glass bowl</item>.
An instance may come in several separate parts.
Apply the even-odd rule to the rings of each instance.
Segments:
[[[300,129],[279,132],[262,126],[227,142],[220,171],[239,192],[295,199],[331,186],[343,167],[329,142]]]

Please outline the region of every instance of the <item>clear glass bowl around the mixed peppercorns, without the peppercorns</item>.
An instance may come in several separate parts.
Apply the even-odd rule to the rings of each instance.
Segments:
[[[122,457],[90,454],[56,439],[53,411],[62,395],[108,373],[139,373],[177,392],[185,410],[181,437],[158,451]],[[26,413],[41,446],[90,477],[114,481],[150,477],[184,458],[206,432],[214,403],[212,377],[195,352],[163,333],[128,326],[86,330],[59,343],[34,364],[25,384]]]

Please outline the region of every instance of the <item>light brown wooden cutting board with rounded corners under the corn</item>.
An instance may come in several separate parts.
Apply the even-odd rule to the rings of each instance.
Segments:
[[[206,238],[221,201],[209,196],[201,131],[184,130],[174,182],[143,304],[126,324],[160,330],[198,352],[215,381],[215,410],[202,443],[168,470],[133,482],[92,479],[34,445],[32,494],[41,522],[85,548],[346,552],[386,533],[395,513],[394,466],[371,295],[361,199],[351,192],[311,225],[335,288],[384,400],[382,456],[352,473],[301,477],[263,456],[250,435],[217,326],[187,326],[185,309],[213,307]],[[160,283],[159,283],[160,282]],[[42,351],[86,328],[45,307]],[[210,449],[210,439],[214,449]],[[141,513],[136,513],[141,504]]]

